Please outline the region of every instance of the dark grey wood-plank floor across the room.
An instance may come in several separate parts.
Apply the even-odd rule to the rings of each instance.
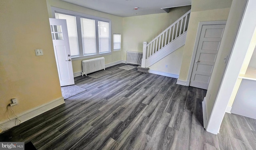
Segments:
[[[111,74],[76,77],[87,91],[2,134],[38,150],[254,150],[256,121],[226,114],[220,134],[202,126],[206,91],[177,79],[107,68]]]

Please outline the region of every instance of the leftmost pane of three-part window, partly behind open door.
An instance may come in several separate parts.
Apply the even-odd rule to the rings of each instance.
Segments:
[[[78,37],[76,30],[76,17],[55,13],[56,19],[66,19],[68,27],[68,39],[70,45],[70,53],[72,56],[79,55]]]

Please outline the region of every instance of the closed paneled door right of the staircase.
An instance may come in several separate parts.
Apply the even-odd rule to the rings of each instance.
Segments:
[[[224,28],[225,24],[202,26],[190,86],[208,89]]]

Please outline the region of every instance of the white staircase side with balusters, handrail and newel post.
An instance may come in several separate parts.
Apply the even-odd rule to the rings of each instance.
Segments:
[[[190,12],[186,12],[149,43],[143,42],[142,68],[150,67],[185,45]]]

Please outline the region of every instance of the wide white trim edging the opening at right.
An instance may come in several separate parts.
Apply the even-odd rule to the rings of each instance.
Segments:
[[[238,34],[236,36],[234,46],[232,47],[230,59],[228,60],[228,65],[224,72],[224,77],[222,78],[222,82],[209,117],[206,131],[213,134],[217,134],[219,131],[226,113],[230,95],[232,94],[233,87],[238,79],[246,53],[248,49],[255,48],[255,42],[252,41],[256,40],[256,20],[251,19],[253,15],[256,14],[254,6],[256,6],[255,0],[247,1],[244,14],[242,15],[242,21],[238,29]],[[232,3],[230,11],[234,13],[235,10],[236,8],[233,7]],[[241,51],[241,49],[244,50]]]

